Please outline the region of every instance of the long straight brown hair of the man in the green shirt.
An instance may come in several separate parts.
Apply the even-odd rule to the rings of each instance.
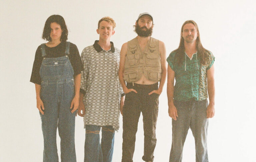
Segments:
[[[174,50],[175,54],[175,60],[177,62],[178,65],[181,65],[182,62],[185,60],[185,47],[184,47],[184,38],[182,37],[182,33],[183,33],[183,27],[186,24],[193,24],[196,28],[197,31],[197,35],[198,37],[196,38],[196,50],[197,50],[197,54],[198,54],[198,58],[200,60],[200,63],[202,65],[208,65],[210,62],[210,51],[206,50],[200,40],[200,34],[199,34],[199,30],[198,30],[198,26],[196,24],[196,22],[194,22],[193,20],[187,20],[183,23],[182,27],[181,27],[181,32],[180,32],[180,44],[179,47]]]

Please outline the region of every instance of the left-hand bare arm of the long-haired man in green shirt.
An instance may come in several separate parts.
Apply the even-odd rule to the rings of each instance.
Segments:
[[[175,78],[175,72],[168,65],[168,69],[167,69],[167,98],[168,98],[168,107],[169,107],[168,114],[169,114],[169,117],[171,117],[176,121],[177,120],[176,117],[178,117],[178,113],[173,103],[174,78]]]

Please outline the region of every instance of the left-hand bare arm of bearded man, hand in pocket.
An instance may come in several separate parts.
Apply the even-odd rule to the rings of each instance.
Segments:
[[[134,89],[128,89],[126,87],[125,81],[124,81],[124,64],[125,64],[125,56],[126,56],[126,53],[127,53],[127,48],[128,48],[128,44],[126,42],[122,45],[122,48],[121,48],[121,51],[120,51],[120,63],[119,63],[118,77],[119,77],[119,81],[121,83],[121,86],[123,87],[124,93],[129,93],[131,91],[134,91],[135,93],[137,93],[137,91],[135,91]]]

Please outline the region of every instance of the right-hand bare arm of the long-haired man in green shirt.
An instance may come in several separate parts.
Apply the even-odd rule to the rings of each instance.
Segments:
[[[215,114],[215,86],[214,86],[214,64],[207,70],[207,91],[209,95],[209,105],[207,107],[207,118],[213,118]]]

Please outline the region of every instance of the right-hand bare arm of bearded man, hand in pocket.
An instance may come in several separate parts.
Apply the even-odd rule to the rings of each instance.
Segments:
[[[159,41],[159,52],[160,52],[160,57],[161,57],[161,69],[162,69],[162,74],[161,74],[161,80],[159,83],[159,88],[158,90],[154,90],[152,92],[149,93],[149,95],[151,95],[152,93],[157,93],[157,94],[161,94],[163,91],[163,87],[164,87],[164,82],[166,79],[166,49],[165,49],[165,45],[164,42]]]

